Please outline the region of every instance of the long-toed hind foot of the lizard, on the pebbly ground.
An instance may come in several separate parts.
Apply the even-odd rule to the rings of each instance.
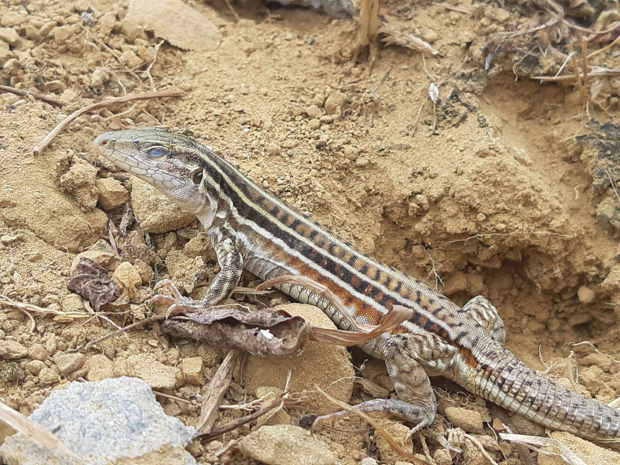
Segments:
[[[408,402],[400,401],[398,399],[373,399],[372,401],[366,401],[355,405],[353,408],[356,410],[361,410],[366,414],[383,412],[386,415],[396,415],[403,420],[416,423],[415,427],[407,433],[407,436],[405,436],[405,440],[409,439],[422,428],[425,428],[433,423],[433,420],[435,419],[435,412],[425,409],[424,407],[420,407],[420,405],[409,404]],[[317,425],[320,425],[321,423],[329,421],[333,424],[334,420],[350,417],[351,415],[355,414],[349,410],[340,410],[340,412],[321,415],[320,417],[317,417],[316,415],[304,415],[299,420],[299,426],[306,429],[312,429],[316,428]]]

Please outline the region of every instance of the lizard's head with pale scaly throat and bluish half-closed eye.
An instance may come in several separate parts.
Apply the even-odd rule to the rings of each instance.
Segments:
[[[162,128],[138,128],[104,133],[93,144],[105,159],[148,182],[201,221],[215,214],[217,198],[205,179],[206,157],[215,154],[193,139]]]

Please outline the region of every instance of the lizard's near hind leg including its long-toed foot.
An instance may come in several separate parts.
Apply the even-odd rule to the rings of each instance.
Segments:
[[[422,365],[414,358],[416,353],[422,352],[420,350],[420,337],[423,336],[415,334],[392,335],[383,345],[382,352],[386,361],[387,373],[394,383],[394,389],[396,389],[399,399],[373,399],[355,405],[355,409],[363,412],[383,412],[414,423],[415,427],[407,434],[407,438],[433,423],[437,409],[435,393],[430,385],[430,380]],[[311,417],[308,420],[314,420],[312,423],[314,426],[349,415],[351,414],[347,410],[341,410],[321,417]]]

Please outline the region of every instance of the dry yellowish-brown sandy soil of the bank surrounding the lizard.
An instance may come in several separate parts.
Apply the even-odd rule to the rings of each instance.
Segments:
[[[532,27],[536,19],[513,6],[461,0],[450,6],[457,11],[422,2],[407,19],[398,4],[382,4],[388,21],[426,38],[440,54],[423,58],[407,48],[379,45],[371,48],[370,60],[356,62],[354,20],[307,9],[236,4],[241,20],[235,22],[224,3],[190,2],[189,9],[212,23],[192,42],[178,37],[174,23],[157,25],[154,37],[126,21],[128,4],[122,1],[0,5],[5,28],[0,45],[11,42],[6,51],[0,47],[0,84],[69,102],[59,108],[0,94],[1,293],[52,311],[84,311],[66,280],[76,254],[100,239],[109,241],[109,219],[119,244],[135,241],[133,249],[123,250],[141,250],[121,259],[141,270],[139,295],[153,284],[154,266],[159,277],[185,279],[187,291],[213,277],[212,251],[187,252],[198,228],[192,218],[177,225],[179,231],[152,232],[151,242],[143,232],[130,240],[118,231],[123,207],[102,205],[105,185],[98,180],[116,179],[127,190],[138,185],[99,157],[92,139],[122,125],[170,125],[202,139],[283,200],[379,259],[438,286],[457,303],[488,296],[507,327],[507,347],[534,368],[544,370],[542,360],[548,364],[567,356],[569,342],[584,340],[619,358],[620,307],[609,304],[620,301],[620,198],[613,188],[620,180],[618,129],[612,124],[617,118],[590,106],[590,120],[572,85],[541,84],[525,71],[515,81],[521,68],[513,71],[513,64],[525,63],[520,61],[525,53],[498,58],[489,73],[476,56],[459,68],[489,33]],[[169,42],[162,41],[167,34]],[[611,53],[595,60],[618,67]],[[538,71],[530,74],[543,65],[549,67],[537,63]],[[616,105],[616,81],[601,81],[599,98],[607,104]],[[418,119],[431,82],[439,84],[441,100],[434,112],[427,100]],[[33,146],[74,110],[153,87],[182,89],[185,95],[82,116],[33,155]],[[130,229],[140,231],[139,224]],[[188,267],[202,267],[200,276],[182,276],[183,260],[189,259],[194,261]],[[110,319],[123,325],[141,317],[144,311],[136,304]],[[24,414],[68,380],[89,379],[88,362],[64,374],[55,356],[113,329],[103,319],[84,322],[52,312],[34,318],[37,327],[30,331],[29,319],[18,309],[6,306],[0,313],[0,340],[27,348],[17,361],[0,360],[0,396]],[[206,376],[215,373],[221,351],[177,347],[164,339],[147,327],[131,339],[108,339],[86,355],[113,361],[114,376],[123,374],[117,360],[130,356],[177,367],[197,354],[205,360]],[[578,381],[591,396],[603,402],[618,397],[619,364],[590,346],[573,350],[570,373],[578,368]],[[353,351],[355,366],[364,360]],[[201,387],[173,390],[178,389]],[[358,388],[353,392],[357,399],[368,395]],[[445,402],[476,407],[484,421],[495,418],[484,402],[471,401],[474,405],[449,392]],[[170,404],[167,411],[195,424],[197,412]],[[350,420],[343,427],[355,428],[363,425]],[[487,433],[492,436],[488,428]],[[330,429],[320,434],[344,462],[381,458],[381,445],[367,434]],[[441,449],[429,446],[431,454]],[[422,451],[419,442],[414,448]],[[513,446],[502,448],[508,458],[503,463],[520,463]],[[495,452],[498,461],[502,453]],[[463,463],[478,463],[471,454]],[[197,457],[210,461],[203,449]],[[246,460],[239,454],[226,457]]]

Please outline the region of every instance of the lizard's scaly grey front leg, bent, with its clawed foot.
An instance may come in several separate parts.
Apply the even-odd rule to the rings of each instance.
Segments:
[[[148,304],[154,302],[165,302],[170,304],[168,309],[170,313],[195,311],[197,309],[218,305],[231,296],[243,272],[243,257],[241,251],[237,247],[234,238],[221,228],[210,229],[209,237],[218,257],[221,270],[215,278],[213,278],[213,281],[211,281],[203,298],[201,300],[194,300],[184,297],[172,281],[161,280],[154,286],[153,291],[157,291],[161,288],[168,288],[172,291],[174,297],[157,294],[149,299]]]

